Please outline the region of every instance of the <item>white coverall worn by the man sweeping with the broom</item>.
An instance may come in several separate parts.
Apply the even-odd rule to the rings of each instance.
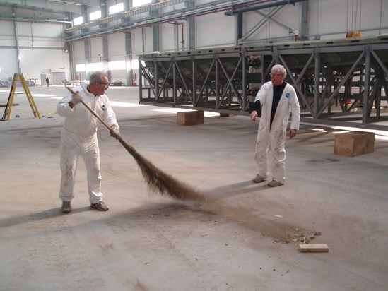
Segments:
[[[93,109],[109,126],[117,124],[116,114],[110,107],[107,95],[94,95],[87,90],[87,84],[74,87],[83,102]],[[66,95],[57,105],[57,112],[64,120],[61,132],[61,188],[59,198],[71,201],[74,198],[74,184],[78,158],[85,162],[88,178],[90,203],[102,201],[100,148],[98,147],[97,127],[100,121],[80,103],[71,108],[71,94]]]

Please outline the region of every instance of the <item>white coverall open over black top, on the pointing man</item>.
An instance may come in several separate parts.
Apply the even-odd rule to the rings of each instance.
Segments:
[[[258,174],[261,177],[266,178],[272,176],[272,179],[284,183],[286,181],[285,143],[288,119],[292,112],[290,129],[298,130],[300,107],[295,89],[286,83],[281,99],[278,102],[274,120],[270,126],[272,98],[274,95],[273,88],[274,85],[271,82],[264,83],[254,99],[255,102],[259,100],[261,104],[261,118],[257,132],[254,159],[257,162]],[[272,153],[272,160],[269,160],[269,151]],[[269,162],[271,162],[270,171],[268,169]]]

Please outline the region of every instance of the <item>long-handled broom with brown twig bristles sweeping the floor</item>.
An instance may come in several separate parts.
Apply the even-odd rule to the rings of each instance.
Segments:
[[[71,88],[66,87],[72,94],[76,94]],[[101,123],[110,131],[110,126],[102,120],[102,118],[94,112],[83,100],[81,103],[93,114]],[[134,157],[137,164],[141,169],[148,187],[151,191],[159,191],[160,194],[164,196],[170,196],[179,200],[196,200],[196,201],[206,201],[207,198],[196,191],[192,186],[184,184],[171,175],[163,172],[162,170],[155,167],[152,162],[140,155],[133,146],[129,145],[122,136],[118,136],[117,140],[128,150],[128,152]]]

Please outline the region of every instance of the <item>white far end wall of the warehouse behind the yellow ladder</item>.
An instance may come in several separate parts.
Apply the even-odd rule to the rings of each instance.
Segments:
[[[3,13],[12,13],[11,8],[0,7],[0,14]],[[20,17],[34,16],[34,13],[18,9]],[[23,73],[25,79],[36,79],[37,85],[42,84],[41,74],[52,81],[56,72],[70,76],[63,23],[0,20],[0,27],[0,81],[12,80],[14,73]]]

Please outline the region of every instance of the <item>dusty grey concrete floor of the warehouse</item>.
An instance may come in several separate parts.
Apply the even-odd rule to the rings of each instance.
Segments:
[[[382,136],[373,153],[348,158],[334,155],[339,129],[302,125],[286,141],[286,184],[272,189],[252,183],[257,122],[249,117],[209,113],[205,124],[178,126],[176,111],[138,105],[137,88],[110,88],[125,141],[213,202],[151,194],[101,126],[110,210],[90,208],[80,160],[74,210],[64,215],[55,112],[66,90],[30,90],[42,119],[18,94],[11,119],[0,122],[0,290],[388,289]],[[1,88],[0,104],[8,93]],[[301,253],[304,237],[329,252]]]

